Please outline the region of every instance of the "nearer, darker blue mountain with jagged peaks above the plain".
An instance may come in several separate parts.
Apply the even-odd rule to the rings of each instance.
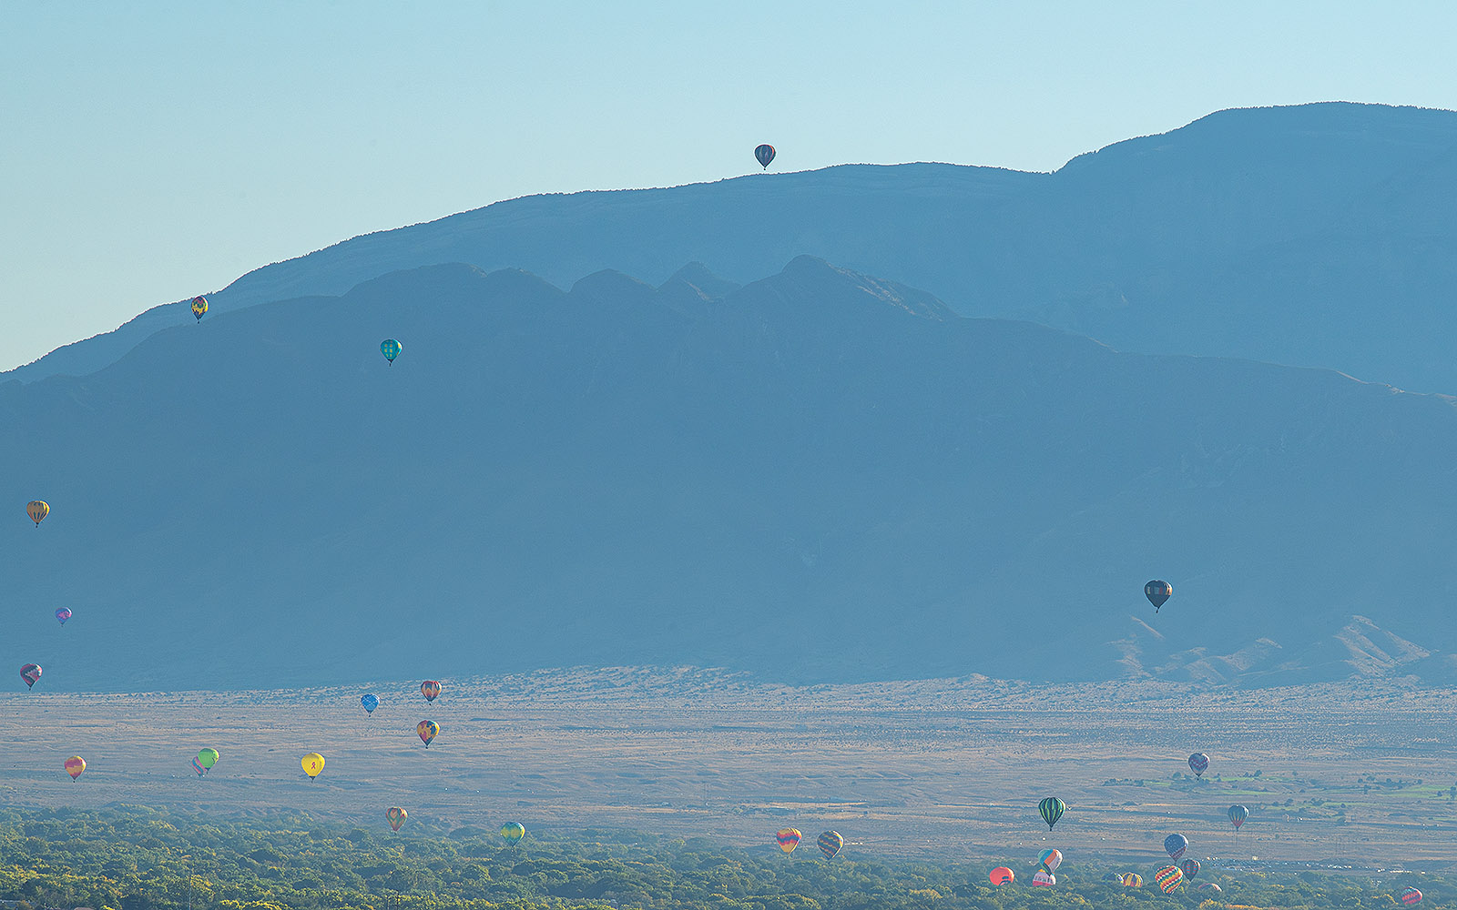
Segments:
[[[1453,399],[1119,354],[810,258],[739,288],[396,272],[6,383],[0,414],[0,649],[51,689],[1447,678],[1457,652]]]

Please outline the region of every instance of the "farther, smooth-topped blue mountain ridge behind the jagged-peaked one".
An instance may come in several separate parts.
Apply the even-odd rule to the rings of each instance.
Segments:
[[[963,314],[1120,349],[1457,392],[1454,250],[1457,114],[1321,103],[1212,114],[1056,173],[844,166],[511,199],[259,268],[211,301],[220,313],[342,294],[441,262],[568,285],[605,268],[660,282],[698,261],[745,282],[809,253],[927,288]],[[169,304],[13,376],[87,374],[189,320],[185,303]]]

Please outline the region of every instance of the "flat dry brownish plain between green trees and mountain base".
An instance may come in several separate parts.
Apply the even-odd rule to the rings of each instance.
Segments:
[[[592,670],[358,689],[0,696],[0,805],[303,808],[383,824],[634,827],[848,852],[1056,846],[1155,862],[1444,869],[1457,855],[1457,690],[1402,681],[1237,692],[985,678],[791,689],[696,670]],[[360,706],[376,692],[373,716]],[[421,719],[440,724],[427,750]],[[189,760],[221,760],[200,779]],[[319,751],[318,780],[299,759]],[[1203,780],[1185,764],[1208,753]],[[61,761],[87,769],[71,782]],[[1451,788],[1451,789],[1448,789]],[[1055,833],[1042,796],[1068,812]],[[1236,833],[1230,804],[1250,808]]]

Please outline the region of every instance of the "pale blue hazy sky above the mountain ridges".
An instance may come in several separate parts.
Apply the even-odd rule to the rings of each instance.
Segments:
[[[536,192],[1052,170],[1222,108],[1457,108],[1457,4],[0,1],[0,368]]]

